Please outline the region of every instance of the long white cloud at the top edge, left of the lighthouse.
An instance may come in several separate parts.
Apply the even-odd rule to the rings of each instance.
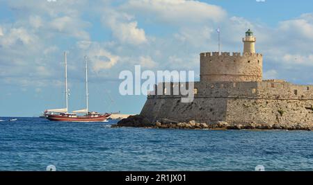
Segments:
[[[203,23],[221,21],[226,12],[220,6],[200,1],[186,0],[130,0],[122,6],[124,10],[133,10],[149,19],[157,19],[176,24]]]

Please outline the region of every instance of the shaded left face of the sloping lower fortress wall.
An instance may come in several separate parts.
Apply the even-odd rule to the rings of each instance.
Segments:
[[[161,118],[181,122],[195,120],[200,123],[225,120],[226,98],[195,98],[193,103],[181,103],[180,100],[174,97],[147,98],[141,116],[145,116],[152,122]]]

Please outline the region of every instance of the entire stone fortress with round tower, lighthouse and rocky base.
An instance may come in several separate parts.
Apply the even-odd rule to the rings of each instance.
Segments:
[[[255,53],[255,42],[249,29],[243,53],[200,53],[192,103],[181,103],[179,95],[148,96],[141,114],[118,126],[312,130],[313,86],[263,80],[263,56]],[[164,82],[163,92],[180,85]]]

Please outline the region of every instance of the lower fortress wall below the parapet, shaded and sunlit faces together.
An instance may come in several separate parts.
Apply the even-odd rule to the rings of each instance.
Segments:
[[[313,100],[274,100],[253,98],[195,98],[193,103],[180,103],[180,98],[148,98],[142,116],[150,121],[168,118],[174,121],[232,124],[313,126]]]

